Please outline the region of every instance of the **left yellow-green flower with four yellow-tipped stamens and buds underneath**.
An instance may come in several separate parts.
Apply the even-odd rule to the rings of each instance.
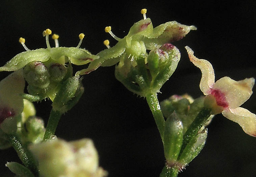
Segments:
[[[92,55],[85,49],[80,49],[84,34],[79,35],[80,41],[77,47],[59,47],[58,35],[53,34],[55,48],[49,44],[50,29],[43,32],[46,36],[47,49],[29,50],[25,45],[25,39],[20,38],[20,43],[26,52],[22,52],[0,67],[0,71],[15,71],[24,68],[24,78],[28,82],[28,93],[22,97],[30,101],[40,101],[45,98],[54,100],[62,82],[72,77],[75,65],[84,65],[99,56]],[[65,63],[69,62],[67,66]]]

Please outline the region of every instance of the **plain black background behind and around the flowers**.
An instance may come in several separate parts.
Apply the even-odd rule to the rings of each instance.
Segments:
[[[159,100],[173,94],[188,93],[199,97],[201,73],[189,62],[184,46],[195,51],[198,58],[209,60],[216,80],[229,76],[234,80],[256,77],[255,60],[255,1],[233,3],[207,1],[119,1],[103,3],[62,1],[0,2],[0,65],[23,52],[19,37],[26,39],[30,49],[46,48],[42,31],[50,28],[59,34],[60,46],[76,46],[78,34],[85,34],[83,48],[97,54],[116,41],[104,32],[105,26],[119,37],[128,33],[133,23],[142,19],[140,9],[147,8],[153,25],[178,21],[195,25],[190,32],[175,42],[181,51],[177,70],[164,84]],[[51,46],[54,46],[50,39]],[[74,67],[79,70],[83,67]],[[8,72],[1,72],[1,79]],[[100,166],[109,176],[159,176],[164,165],[163,147],[153,116],[144,98],[128,91],[114,78],[114,66],[100,67],[84,76],[85,93],[75,108],[62,116],[56,130],[59,138],[93,139],[100,156]],[[253,91],[256,89],[254,87]],[[242,106],[256,113],[255,94]],[[47,122],[50,101],[36,104],[37,115]],[[208,126],[204,149],[193,160],[182,176],[225,177],[256,176],[256,138],[241,127],[217,115]],[[4,166],[6,161],[18,161],[14,150],[0,152],[0,176],[13,176]],[[54,167],[53,167],[54,168]]]

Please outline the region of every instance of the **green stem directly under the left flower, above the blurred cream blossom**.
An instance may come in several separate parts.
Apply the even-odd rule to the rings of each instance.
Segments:
[[[51,110],[45,130],[44,141],[49,140],[50,137],[55,134],[55,130],[57,128],[61,115],[62,114],[59,111],[54,111],[53,109]]]

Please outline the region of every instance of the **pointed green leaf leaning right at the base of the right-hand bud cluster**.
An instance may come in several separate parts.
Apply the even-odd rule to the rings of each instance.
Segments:
[[[178,162],[183,165],[183,168],[201,152],[205,145],[206,138],[207,129],[196,135],[188,142],[178,159]]]

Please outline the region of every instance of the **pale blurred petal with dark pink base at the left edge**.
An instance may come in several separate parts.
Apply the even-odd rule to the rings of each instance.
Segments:
[[[0,123],[5,118],[22,112],[24,105],[20,94],[24,92],[24,88],[23,69],[11,73],[0,82]]]

